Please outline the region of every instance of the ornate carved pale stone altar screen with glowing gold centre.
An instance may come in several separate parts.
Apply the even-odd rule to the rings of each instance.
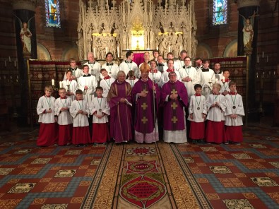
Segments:
[[[166,0],[155,6],[151,0],[80,0],[78,52],[87,59],[93,52],[105,59],[107,52],[124,58],[122,50],[159,49],[164,57],[172,52],[177,58],[182,49],[196,56],[196,15],[194,0]],[[108,5],[109,4],[109,5]],[[136,43],[136,44],[135,44]]]

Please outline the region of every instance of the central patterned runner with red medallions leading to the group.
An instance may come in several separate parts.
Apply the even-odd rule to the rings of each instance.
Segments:
[[[212,208],[175,145],[109,144],[81,208]],[[182,169],[183,167],[183,169]],[[98,177],[102,177],[99,179]]]

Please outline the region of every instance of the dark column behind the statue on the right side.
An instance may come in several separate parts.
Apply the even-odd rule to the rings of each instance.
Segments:
[[[239,11],[238,20],[238,42],[237,42],[237,55],[247,56],[247,98],[246,101],[246,125],[249,121],[259,119],[259,113],[256,111],[255,106],[255,71],[256,71],[256,54],[258,42],[258,18],[259,18],[259,5],[260,0],[237,0],[237,8]],[[253,39],[246,42],[244,45],[244,24],[246,19],[250,20],[253,28]],[[256,117],[255,117],[256,116]]]

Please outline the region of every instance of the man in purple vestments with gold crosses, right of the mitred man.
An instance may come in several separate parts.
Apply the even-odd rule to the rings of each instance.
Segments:
[[[164,108],[164,141],[186,143],[184,108],[188,105],[185,85],[177,80],[177,74],[169,73],[170,80],[162,86],[161,102]]]

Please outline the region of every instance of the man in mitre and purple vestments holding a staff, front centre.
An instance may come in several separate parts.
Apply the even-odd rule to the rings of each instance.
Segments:
[[[132,90],[133,104],[136,106],[134,129],[137,143],[153,143],[159,140],[155,114],[157,115],[160,90],[158,85],[148,78],[149,70],[148,64],[141,65],[141,78]]]

